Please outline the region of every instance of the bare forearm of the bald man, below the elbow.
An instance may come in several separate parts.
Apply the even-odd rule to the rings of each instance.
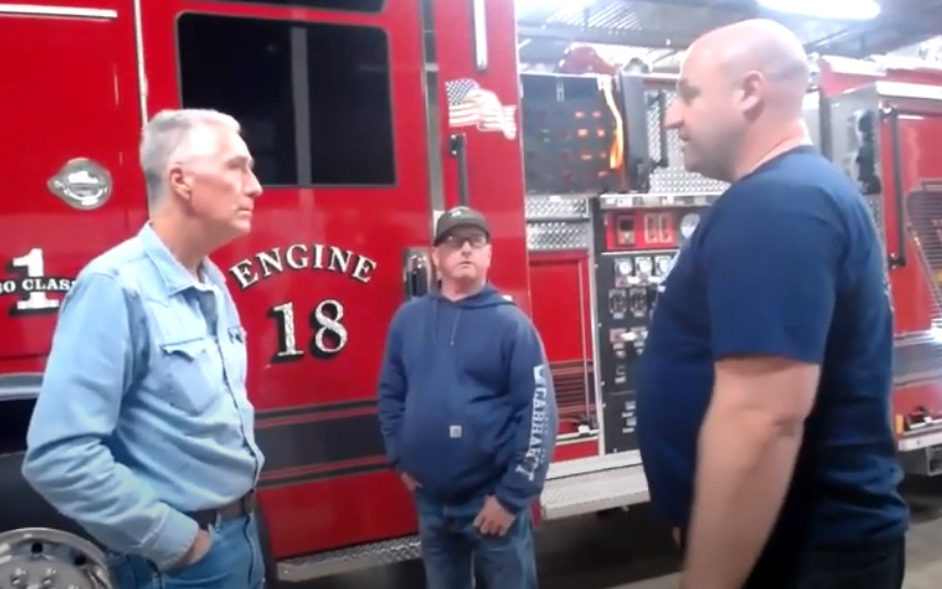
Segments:
[[[788,489],[800,431],[711,408],[700,430],[684,589],[739,589]]]

